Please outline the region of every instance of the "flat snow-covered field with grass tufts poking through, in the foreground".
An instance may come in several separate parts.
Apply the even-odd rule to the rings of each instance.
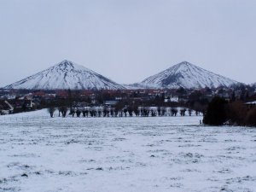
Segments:
[[[256,129],[202,117],[0,117],[0,191],[256,191]]]

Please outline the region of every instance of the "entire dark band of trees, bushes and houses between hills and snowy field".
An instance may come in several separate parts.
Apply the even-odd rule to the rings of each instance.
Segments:
[[[10,93],[15,99],[5,96]],[[5,101],[12,113],[48,108],[51,116],[57,110],[62,117],[154,117],[193,111],[204,115],[206,125],[256,126],[256,86],[244,84],[197,90],[0,90],[0,111]]]

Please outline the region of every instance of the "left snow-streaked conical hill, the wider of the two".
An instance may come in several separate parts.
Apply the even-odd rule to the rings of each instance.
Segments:
[[[124,89],[124,87],[86,67],[75,64],[72,61],[64,60],[26,79],[9,84],[4,89],[117,90]]]

